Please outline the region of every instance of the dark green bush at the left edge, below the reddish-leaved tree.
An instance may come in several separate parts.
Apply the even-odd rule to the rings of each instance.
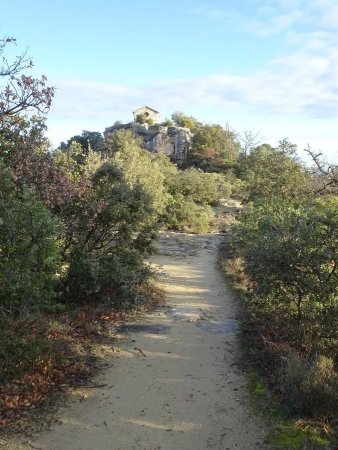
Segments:
[[[58,221],[0,163],[0,304],[7,311],[51,302],[60,268]]]

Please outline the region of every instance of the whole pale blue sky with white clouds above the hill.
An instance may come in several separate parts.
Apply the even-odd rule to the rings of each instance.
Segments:
[[[337,0],[11,0],[0,36],[55,87],[54,146],[148,105],[338,163]]]

